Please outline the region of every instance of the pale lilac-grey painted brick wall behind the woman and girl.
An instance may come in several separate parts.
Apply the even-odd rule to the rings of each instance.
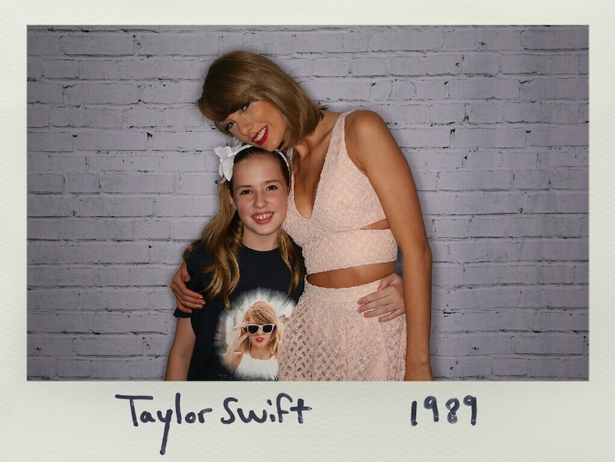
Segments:
[[[29,378],[162,378],[226,141],[193,101],[233,49],[389,124],[434,253],[436,378],[588,378],[588,47],[584,26],[29,27]]]

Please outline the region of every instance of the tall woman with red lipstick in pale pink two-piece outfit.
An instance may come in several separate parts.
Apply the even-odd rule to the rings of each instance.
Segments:
[[[210,66],[199,108],[240,141],[292,148],[283,227],[303,247],[308,277],[285,334],[280,380],[432,380],[431,250],[410,168],[380,116],[319,109],[272,61],[243,51]],[[404,318],[361,323],[348,315],[352,298],[395,270],[395,243],[404,256],[407,327]],[[400,344],[405,351],[396,351]]]

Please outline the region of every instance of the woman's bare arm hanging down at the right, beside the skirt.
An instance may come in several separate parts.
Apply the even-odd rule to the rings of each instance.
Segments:
[[[406,380],[433,380],[430,363],[432,252],[410,166],[384,121],[371,111],[346,118],[346,145],[365,172],[403,256]]]

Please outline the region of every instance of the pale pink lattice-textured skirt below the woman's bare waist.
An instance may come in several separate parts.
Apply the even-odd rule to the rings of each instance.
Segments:
[[[288,321],[280,352],[280,380],[403,380],[406,320],[365,318],[357,300],[380,281],[349,288],[323,288],[305,281]]]

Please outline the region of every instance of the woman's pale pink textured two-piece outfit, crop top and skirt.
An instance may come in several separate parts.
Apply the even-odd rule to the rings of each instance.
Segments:
[[[333,128],[310,219],[299,214],[293,192],[288,199],[284,228],[303,247],[308,274],[397,258],[397,243],[389,229],[360,229],[385,214],[369,179],[348,157],[346,114]],[[405,316],[381,323],[357,313],[357,300],[375,292],[378,284],[322,288],[305,281],[285,329],[280,380],[402,380]]]

